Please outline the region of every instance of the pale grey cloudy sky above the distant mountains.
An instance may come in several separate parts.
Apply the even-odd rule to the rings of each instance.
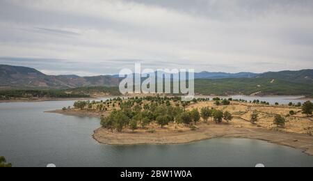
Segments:
[[[122,68],[313,68],[312,0],[0,0],[0,64],[47,74]]]

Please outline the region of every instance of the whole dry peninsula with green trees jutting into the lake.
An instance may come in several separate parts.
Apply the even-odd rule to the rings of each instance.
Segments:
[[[255,100],[128,97],[78,101],[49,111],[101,119],[93,138],[108,145],[180,144],[213,138],[259,139],[313,155],[312,102],[270,105]]]

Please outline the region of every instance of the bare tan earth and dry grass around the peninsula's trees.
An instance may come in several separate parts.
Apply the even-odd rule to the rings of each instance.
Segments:
[[[292,148],[303,150],[307,155],[313,155],[313,120],[305,117],[296,107],[274,107],[262,106],[248,103],[232,102],[227,106],[214,106],[213,102],[199,102],[191,104],[188,109],[200,109],[201,107],[215,107],[223,111],[230,111],[234,119],[230,123],[216,125],[212,120],[209,123],[198,123],[197,130],[192,131],[183,125],[171,123],[165,128],[161,128],[153,123],[149,129],[138,129],[132,132],[129,129],[123,129],[123,132],[111,132],[111,130],[99,128],[96,129],[93,138],[99,143],[107,145],[141,145],[141,144],[182,144],[194,141],[202,141],[214,138],[240,138],[240,139],[258,139],[287,145]],[[273,118],[276,114],[285,116],[290,110],[294,110],[295,116],[287,118],[285,127],[276,127],[273,125]],[[259,112],[259,122],[257,125],[250,123],[250,114],[253,111]],[[108,113],[93,111],[49,111],[50,113],[62,113],[70,116],[89,116],[101,117]],[[154,132],[149,132],[149,130]]]

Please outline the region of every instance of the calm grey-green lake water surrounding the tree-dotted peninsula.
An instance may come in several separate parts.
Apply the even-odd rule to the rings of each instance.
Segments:
[[[284,97],[275,102],[280,100]],[[44,113],[73,102],[0,104],[0,155],[13,166],[313,166],[313,157],[300,150],[250,139],[101,145],[92,138],[93,130],[99,127],[97,118]]]

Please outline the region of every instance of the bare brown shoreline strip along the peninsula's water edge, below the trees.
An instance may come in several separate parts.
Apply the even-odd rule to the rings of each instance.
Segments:
[[[106,116],[103,113],[90,111],[48,111],[49,113],[61,113],[67,116],[86,116],[99,118]],[[242,121],[242,120],[241,120]],[[145,129],[131,132],[125,129],[123,132],[111,132],[107,129],[96,129],[93,138],[99,143],[106,145],[170,145],[192,143],[214,138],[238,138],[257,139],[268,141],[278,145],[286,145],[291,148],[303,150],[307,155],[313,155],[313,136],[307,134],[278,132],[251,125],[248,127],[239,124],[240,120],[235,119],[233,123],[216,125],[215,123],[199,123],[198,130],[155,128],[156,132],[150,133]]]

